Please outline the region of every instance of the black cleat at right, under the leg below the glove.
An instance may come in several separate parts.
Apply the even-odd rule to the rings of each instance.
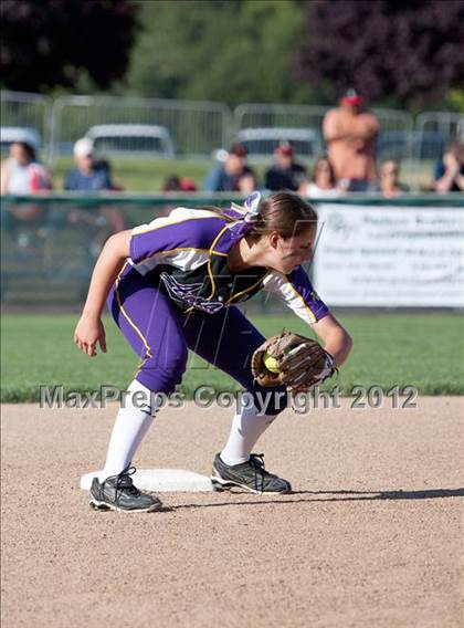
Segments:
[[[264,454],[252,453],[247,462],[229,465],[217,453],[211,482],[215,491],[240,486],[251,493],[280,494],[292,492],[291,483],[264,469]]]

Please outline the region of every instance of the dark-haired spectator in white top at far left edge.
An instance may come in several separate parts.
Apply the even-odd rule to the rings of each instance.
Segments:
[[[10,157],[1,165],[1,193],[30,195],[50,188],[49,172],[38,161],[32,140],[13,142]]]

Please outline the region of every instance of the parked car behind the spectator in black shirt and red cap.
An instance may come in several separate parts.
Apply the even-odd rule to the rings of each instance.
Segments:
[[[281,142],[289,142],[295,154],[303,158],[316,158],[323,151],[320,133],[313,128],[243,128],[236,135],[235,142],[246,147],[252,160],[270,160]]]

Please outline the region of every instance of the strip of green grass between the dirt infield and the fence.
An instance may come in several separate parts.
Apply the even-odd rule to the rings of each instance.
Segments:
[[[65,390],[94,390],[103,384],[125,388],[138,359],[106,320],[108,353],[89,359],[72,342],[74,315],[6,315],[2,321],[3,402],[35,401],[41,384],[63,384]],[[305,333],[303,322],[286,316],[252,316],[268,336],[283,327]],[[464,394],[462,317],[453,314],[340,315],[355,339],[338,385],[352,387],[411,385],[421,395]],[[201,384],[217,390],[238,390],[235,383],[196,356],[190,356],[182,391],[190,396]]]

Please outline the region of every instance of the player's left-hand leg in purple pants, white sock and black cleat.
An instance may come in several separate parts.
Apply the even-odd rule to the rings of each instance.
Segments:
[[[108,306],[141,363],[122,400],[105,469],[91,496],[101,507],[157,510],[159,500],[137,491],[128,470],[158,410],[159,394],[173,391],[186,368],[181,322],[169,300],[131,269],[116,282]]]

